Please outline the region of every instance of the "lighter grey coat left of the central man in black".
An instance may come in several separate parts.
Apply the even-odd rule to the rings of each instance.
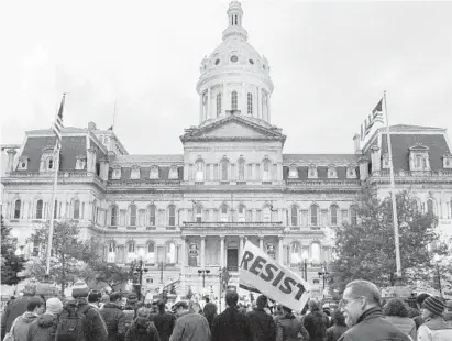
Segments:
[[[210,341],[209,323],[197,312],[184,314],[176,320],[169,341]]]

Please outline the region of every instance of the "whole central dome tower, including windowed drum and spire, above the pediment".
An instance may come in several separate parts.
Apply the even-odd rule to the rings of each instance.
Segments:
[[[227,14],[228,28],[223,31],[222,43],[205,56],[200,65],[196,87],[200,102],[199,123],[228,114],[269,123],[273,82],[268,61],[247,42],[240,2],[232,1]]]

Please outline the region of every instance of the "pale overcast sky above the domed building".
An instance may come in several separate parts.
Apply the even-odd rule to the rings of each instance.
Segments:
[[[0,9],[1,143],[95,121],[131,154],[181,153],[198,124],[199,65],[229,1],[8,1]],[[452,2],[242,1],[249,42],[269,62],[272,123],[285,153],[353,153],[387,91],[392,124],[452,139]],[[3,97],[4,96],[4,97]]]

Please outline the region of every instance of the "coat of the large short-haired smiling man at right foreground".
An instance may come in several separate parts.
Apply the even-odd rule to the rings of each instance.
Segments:
[[[339,341],[409,341],[401,330],[383,317],[382,309],[373,307],[364,311],[357,323],[345,331]]]

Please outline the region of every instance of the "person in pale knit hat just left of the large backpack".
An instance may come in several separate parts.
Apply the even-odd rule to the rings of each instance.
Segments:
[[[57,297],[47,299],[45,312],[30,324],[27,341],[55,340],[58,315],[63,311],[63,302]]]

